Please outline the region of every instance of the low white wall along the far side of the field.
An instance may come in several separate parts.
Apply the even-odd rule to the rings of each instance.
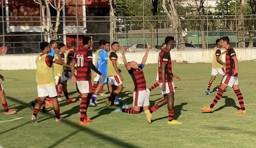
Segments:
[[[224,50],[223,50],[224,51]],[[237,59],[239,61],[256,60],[256,48],[254,49],[236,49]],[[211,63],[213,50],[197,51],[171,51],[172,60],[177,62],[186,61],[188,63]],[[127,61],[136,61],[140,63],[144,52],[125,53]],[[34,70],[36,69],[35,59],[37,55],[5,55],[0,56],[0,70]],[[95,56],[95,55],[94,55]],[[123,64],[122,55],[119,52],[119,64]],[[225,60],[225,55],[223,55]],[[149,52],[146,63],[154,64],[158,62],[158,52]]]

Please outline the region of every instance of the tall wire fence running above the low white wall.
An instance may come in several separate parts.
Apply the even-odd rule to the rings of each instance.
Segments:
[[[87,7],[84,1],[72,2],[67,3],[60,11],[58,20],[58,13],[54,8],[49,8],[50,17],[47,17],[46,12],[42,15],[40,5],[32,0],[24,3],[0,0],[0,48],[39,51],[40,42],[48,41],[47,29],[54,29],[56,22],[59,22],[57,32],[48,32],[48,35],[50,38],[55,37],[57,42],[64,42],[68,47],[72,41],[82,46],[82,36],[88,35],[93,37],[94,49],[100,39],[111,42],[114,40],[123,46],[134,45],[136,48],[144,48],[149,43],[161,49],[166,36],[177,34],[168,16],[109,17],[109,7]],[[238,15],[187,15],[178,18],[183,36],[175,38],[178,45],[186,43],[186,47],[191,49],[211,49],[217,38],[229,36],[234,47],[238,47],[239,42],[244,43],[245,48],[256,47],[255,15],[245,15],[242,28]]]

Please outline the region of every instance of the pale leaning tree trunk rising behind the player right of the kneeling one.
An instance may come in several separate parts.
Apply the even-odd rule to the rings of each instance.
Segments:
[[[168,10],[167,6],[169,7],[170,10]],[[177,48],[180,50],[184,50],[185,43],[182,35],[181,21],[180,21],[180,18],[178,18],[173,0],[163,0],[162,7],[172,22],[173,29],[175,32],[175,40],[177,41]]]

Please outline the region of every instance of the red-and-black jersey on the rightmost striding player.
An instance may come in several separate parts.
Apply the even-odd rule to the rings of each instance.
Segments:
[[[237,76],[234,74],[235,71],[235,62],[233,58],[236,57],[236,52],[233,47],[229,47],[226,50],[226,75],[228,76]]]

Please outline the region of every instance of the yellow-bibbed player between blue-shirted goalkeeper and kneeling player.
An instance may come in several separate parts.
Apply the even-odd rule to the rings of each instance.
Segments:
[[[112,91],[110,92],[110,96],[106,100],[106,105],[108,107],[115,105],[115,100],[117,98],[117,95],[123,90],[123,76],[120,73],[120,70],[118,69],[118,56],[117,51],[119,49],[119,43],[113,42],[111,44],[112,51],[109,52],[108,57],[108,78],[111,83]],[[119,100],[119,99],[118,99]],[[116,100],[116,102],[119,103],[119,101]],[[118,104],[116,103],[116,104]]]

